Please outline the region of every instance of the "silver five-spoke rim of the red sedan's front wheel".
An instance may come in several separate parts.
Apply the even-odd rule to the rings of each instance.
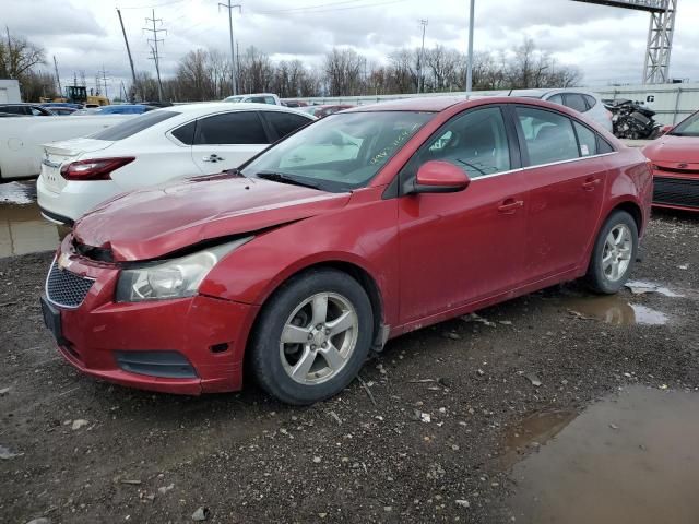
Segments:
[[[345,297],[319,293],[299,303],[284,323],[280,358],[286,374],[304,385],[333,379],[357,345],[359,320]]]

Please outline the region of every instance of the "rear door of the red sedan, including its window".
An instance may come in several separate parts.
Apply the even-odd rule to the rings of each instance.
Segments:
[[[596,133],[558,111],[514,108],[530,179],[526,274],[531,282],[577,267],[594,237],[607,178]]]

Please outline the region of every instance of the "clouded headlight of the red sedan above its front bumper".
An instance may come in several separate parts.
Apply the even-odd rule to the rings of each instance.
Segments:
[[[191,297],[223,257],[250,240],[252,237],[246,237],[180,259],[122,270],[117,284],[117,302]]]

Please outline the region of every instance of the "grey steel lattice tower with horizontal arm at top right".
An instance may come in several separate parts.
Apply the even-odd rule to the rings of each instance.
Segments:
[[[651,15],[643,66],[643,84],[670,82],[670,56],[673,50],[677,0],[573,0],[613,8],[645,11]]]

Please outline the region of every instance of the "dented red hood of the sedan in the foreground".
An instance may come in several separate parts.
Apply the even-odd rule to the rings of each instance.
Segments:
[[[115,261],[152,260],[210,239],[258,231],[343,207],[350,193],[246,179],[190,178],[109,200],[85,214],[73,238]]]

